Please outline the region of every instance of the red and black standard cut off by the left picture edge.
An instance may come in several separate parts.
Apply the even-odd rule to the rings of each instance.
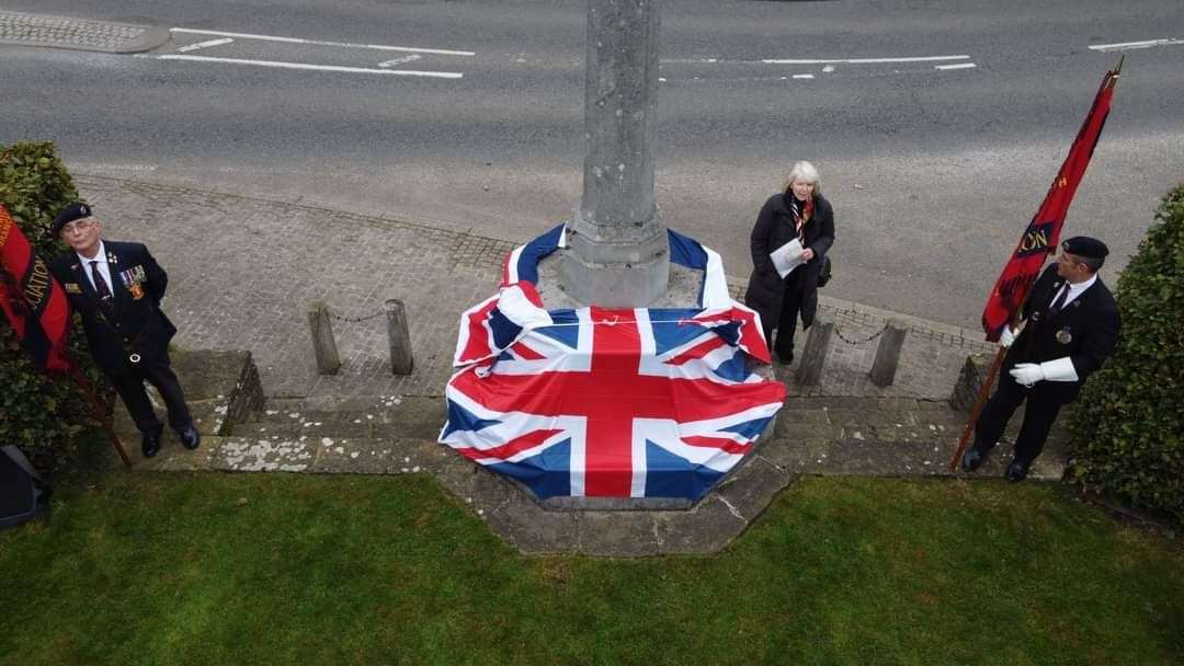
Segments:
[[[49,266],[0,206],[0,309],[41,370],[70,370],[70,303]]]

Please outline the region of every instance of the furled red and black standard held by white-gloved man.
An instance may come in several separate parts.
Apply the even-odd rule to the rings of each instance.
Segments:
[[[1069,211],[1077,185],[1089,166],[1089,159],[1098,146],[1098,137],[1102,134],[1106,124],[1106,116],[1109,115],[1111,98],[1114,96],[1114,84],[1118,83],[1122,62],[1118,66],[1106,72],[1102,84],[1094,96],[1094,103],[1089,108],[1089,115],[1077,130],[1077,138],[1069,148],[1069,156],[1061,164],[1061,170],[1056,174],[1053,186],[1044,196],[1036,215],[1019,237],[1015,252],[1003,267],[999,279],[991,289],[991,296],[983,309],[983,330],[986,340],[996,342],[1003,332],[1003,325],[1011,319],[1016,310],[1023,305],[1028,298],[1028,292],[1040,274],[1041,267],[1048,254],[1056,252],[1060,244],[1061,227],[1064,225],[1064,215]]]

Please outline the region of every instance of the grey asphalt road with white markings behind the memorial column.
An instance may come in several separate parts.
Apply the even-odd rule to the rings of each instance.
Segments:
[[[142,56],[0,46],[0,142],[56,141],[78,172],[509,240],[578,203],[579,0],[0,8],[181,28]],[[1159,196],[1184,181],[1178,0],[678,0],[662,21],[658,203],[729,274],[747,274],[758,208],[806,159],[836,211],[829,293],[976,326],[1120,52],[1114,109],[1066,233],[1111,244],[1113,284]]]

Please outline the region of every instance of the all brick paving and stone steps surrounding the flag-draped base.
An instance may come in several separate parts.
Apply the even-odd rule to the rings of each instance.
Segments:
[[[435,442],[459,315],[494,292],[514,244],[292,202],[95,175],[76,182],[108,238],[147,243],[168,270],[165,308],[179,347],[250,350],[255,360],[240,369],[246,354],[176,355],[204,433],[197,452],[168,435],[159,457],[139,460],[134,426],[117,408],[139,468],[429,473],[526,552],[714,552],[800,474],[952,476],[965,414],[947,399],[967,354],[989,350],[977,331],[823,297],[821,316],[849,341],[889,318],[908,326],[894,386],[867,377],[875,343],[836,338],[816,387],[794,384],[792,367],[776,368],[791,397],[774,431],[690,510],[554,510]],[[729,284],[738,296],[742,279]],[[318,376],[305,323],[314,298],[354,319],[403,299],[414,374],[391,374],[385,319],[374,316],[335,323],[345,364]],[[1006,460],[997,452],[974,477],[998,477]],[[1032,477],[1057,479],[1063,470],[1055,440]]]

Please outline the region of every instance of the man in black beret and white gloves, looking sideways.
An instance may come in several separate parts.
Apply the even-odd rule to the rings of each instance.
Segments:
[[[1077,396],[1086,377],[1114,351],[1118,306],[1098,277],[1108,252],[1095,238],[1079,235],[1062,243],[1056,264],[1032,285],[1023,308],[1023,330],[1016,335],[1010,325],[1004,326],[999,342],[1008,348],[1006,373],[983,408],[974,446],[961,459],[963,470],[972,472],[983,464],[1016,408],[1027,400],[1015,458],[1005,474],[1011,481],[1027,478],[1061,406]]]

